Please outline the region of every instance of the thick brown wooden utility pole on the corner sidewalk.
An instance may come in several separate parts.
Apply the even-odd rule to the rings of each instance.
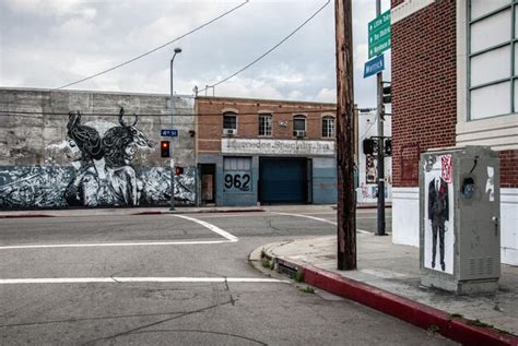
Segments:
[[[352,0],[334,1],[337,49],[338,270],[356,270]]]

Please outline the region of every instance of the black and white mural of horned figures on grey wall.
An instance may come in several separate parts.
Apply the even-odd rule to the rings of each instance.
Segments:
[[[71,111],[69,139],[47,146],[45,166],[0,168],[0,207],[136,206],[165,205],[170,199],[170,169],[132,165],[139,151],[151,153],[156,144],[130,124],[120,109],[119,124],[104,120],[82,123]],[[52,164],[61,155],[69,165]],[[195,171],[175,177],[175,201],[195,203]]]

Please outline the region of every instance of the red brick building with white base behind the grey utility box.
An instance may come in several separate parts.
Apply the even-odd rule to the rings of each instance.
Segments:
[[[392,229],[419,244],[419,156],[488,145],[501,158],[502,261],[518,264],[518,3],[392,0]]]

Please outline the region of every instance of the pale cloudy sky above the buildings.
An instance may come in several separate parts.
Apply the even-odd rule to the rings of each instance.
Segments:
[[[60,87],[170,41],[243,2],[0,0],[0,86]],[[181,47],[175,92],[190,95],[195,85],[215,84],[247,65],[326,2],[250,0],[152,55],[68,88],[168,94],[169,61],[174,48]],[[389,1],[381,3],[381,11],[388,10]],[[367,23],[375,11],[375,0],[353,0],[360,107],[376,104],[375,77],[363,79]],[[268,57],[217,85],[215,95],[334,102],[333,1]]]

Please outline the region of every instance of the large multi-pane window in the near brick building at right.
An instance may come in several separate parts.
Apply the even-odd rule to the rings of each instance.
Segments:
[[[469,120],[518,111],[518,3],[511,2],[469,1]]]

